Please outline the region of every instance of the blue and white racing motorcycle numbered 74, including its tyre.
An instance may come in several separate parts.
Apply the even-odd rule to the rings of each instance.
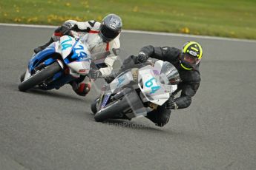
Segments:
[[[88,75],[91,54],[78,35],[63,35],[45,50],[33,54],[27,70],[21,76],[19,90],[24,92],[35,86],[39,89],[59,89],[80,75]]]

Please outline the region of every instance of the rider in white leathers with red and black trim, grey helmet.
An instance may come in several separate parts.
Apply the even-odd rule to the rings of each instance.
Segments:
[[[54,41],[59,41],[62,35],[70,35],[72,31],[79,33],[82,37],[81,40],[87,44],[89,51],[92,55],[95,55],[97,69],[91,69],[90,78],[96,79],[99,76],[111,74],[114,61],[117,60],[120,48],[119,34],[122,29],[122,20],[115,14],[109,14],[103,18],[102,23],[98,21],[74,21],[68,20],[58,27],[53,36],[45,45],[36,47],[34,52],[40,52],[44,50],[48,45]],[[98,54],[98,55],[97,55]],[[108,81],[108,78],[105,78]],[[76,81],[70,82],[73,90],[78,95],[85,96],[91,89],[91,81],[88,77],[81,76]]]

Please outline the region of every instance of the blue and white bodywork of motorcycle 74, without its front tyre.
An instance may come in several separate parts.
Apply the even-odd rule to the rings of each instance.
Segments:
[[[40,66],[50,66],[58,62],[62,70],[53,75],[50,84],[45,89],[59,89],[59,87],[79,78],[80,75],[88,75],[91,65],[91,53],[88,47],[82,44],[79,37],[64,35],[59,41],[53,42],[45,50],[38,52],[30,58],[24,81],[30,78]]]

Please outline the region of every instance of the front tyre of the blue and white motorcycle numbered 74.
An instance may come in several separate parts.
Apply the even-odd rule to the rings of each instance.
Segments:
[[[38,84],[41,84],[47,78],[52,77],[56,72],[59,72],[61,69],[62,67],[60,67],[59,64],[55,62],[50,66],[45,67],[45,69],[41,69],[39,72],[36,72],[30,78],[19,84],[19,90],[25,92],[28,89],[31,89]]]

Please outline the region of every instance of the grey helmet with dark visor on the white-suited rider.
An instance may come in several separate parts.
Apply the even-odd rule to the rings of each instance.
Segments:
[[[99,36],[109,42],[116,38],[122,30],[122,19],[116,14],[109,14],[103,18],[99,27]]]

